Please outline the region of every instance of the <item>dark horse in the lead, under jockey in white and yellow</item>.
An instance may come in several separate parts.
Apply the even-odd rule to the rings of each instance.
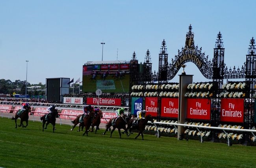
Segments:
[[[135,139],[137,139],[137,137],[139,137],[139,135],[141,135],[142,140],[144,140],[143,131],[145,130],[145,126],[147,125],[148,121],[151,121],[153,123],[154,120],[153,120],[152,116],[149,114],[145,118],[137,121],[136,126],[132,126],[132,123],[134,120],[135,120],[135,118],[132,118],[129,120],[126,130],[124,132],[122,132],[122,134],[124,134],[126,132],[127,136],[130,136],[131,130],[137,129],[139,131],[139,134],[135,137]],[[129,134],[128,134],[128,130],[130,131]]]

